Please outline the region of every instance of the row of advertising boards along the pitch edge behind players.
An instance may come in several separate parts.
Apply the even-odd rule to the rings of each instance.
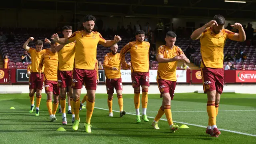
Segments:
[[[156,83],[157,70],[150,70],[149,81]],[[121,70],[123,83],[131,83],[131,70]],[[200,70],[176,70],[177,83],[201,84],[202,74]],[[99,70],[100,82],[105,82],[104,70]],[[256,83],[256,70],[225,70],[225,84]],[[1,84],[28,83],[26,69],[0,69]]]

